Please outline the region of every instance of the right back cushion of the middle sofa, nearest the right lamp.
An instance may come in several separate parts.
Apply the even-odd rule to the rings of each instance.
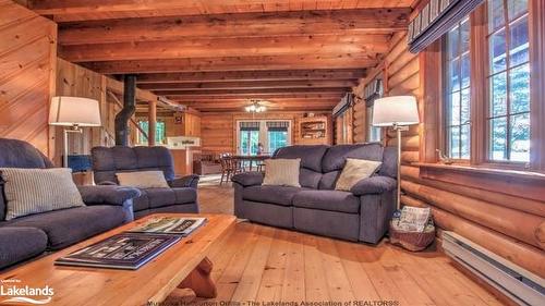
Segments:
[[[322,159],[323,175],[318,188],[335,189],[347,158],[383,161],[383,146],[378,143],[329,147]]]

